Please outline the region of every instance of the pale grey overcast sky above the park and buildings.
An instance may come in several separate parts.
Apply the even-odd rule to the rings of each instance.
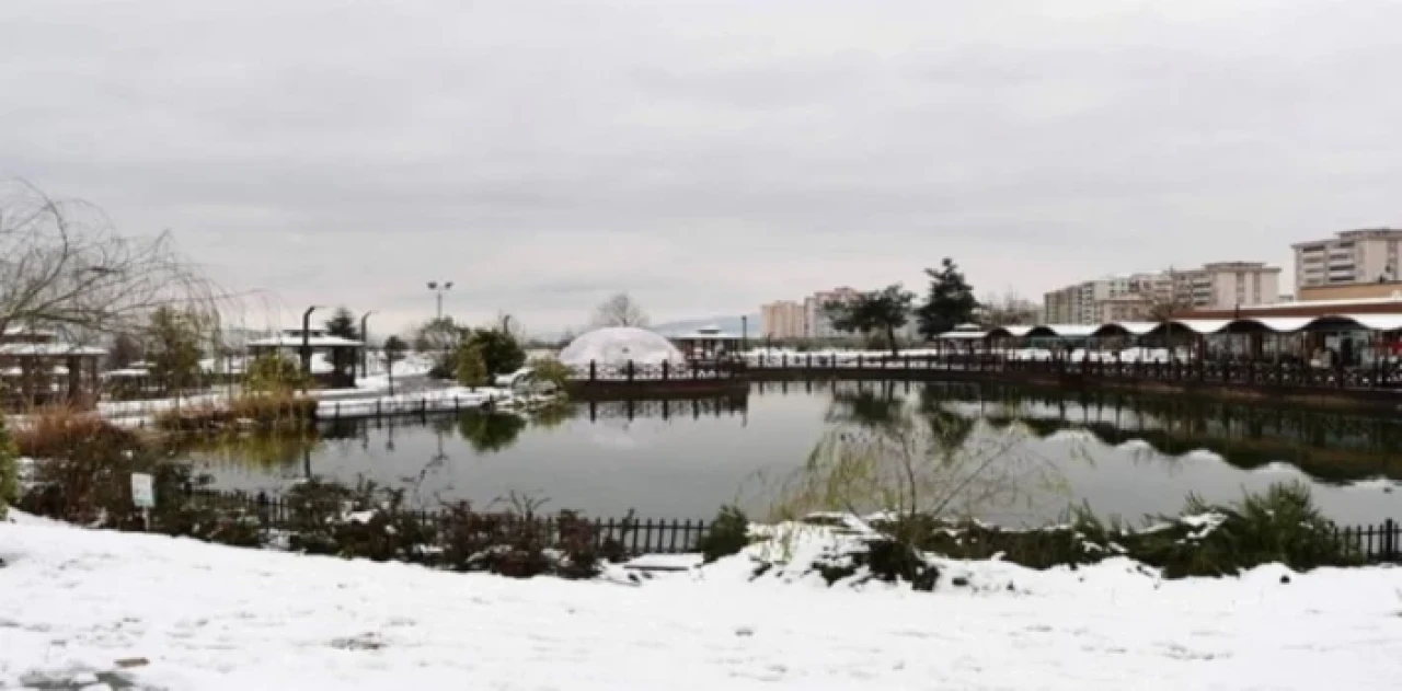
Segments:
[[[1399,220],[1402,3],[3,0],[0,175],[226,287],[655,321],[1040,300]]]

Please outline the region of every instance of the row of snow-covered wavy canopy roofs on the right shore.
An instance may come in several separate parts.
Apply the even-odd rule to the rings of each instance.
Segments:
[[[1036,324],[974,331],[966,327],[941,334],[949,341],[998,341],[1008,338],[1116,338],[1151,336],[1187,331],[1200,336],[1225,334],[1308,334],[1402,331],[1402,314],[1329,314],[1322,317],[1242,317],[1235,320],[1116,321],[1106,324]]]

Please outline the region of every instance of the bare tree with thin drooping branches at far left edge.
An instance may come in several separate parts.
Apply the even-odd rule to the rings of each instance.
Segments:
[[[161,307],[207,314],[217,329],[213,286],[168,233],[123,237],[93,205],[0,185],[0,332],[35,327],[91,342],[143,332]]]

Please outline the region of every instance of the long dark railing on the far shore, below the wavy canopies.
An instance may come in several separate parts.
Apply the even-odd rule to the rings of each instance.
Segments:
[[[1095,377],[1129,381],[1175,381],[1204,384],[1248,384],[1300,388],[1402,388],[1402,369],[1377,364],[1374,367],[1312,367],[1297,362],[1203,360],[1203,362],[1123,362],[1110,359],[1019,359],[1009,355],[900,355],[840,357],[830,353],[795,353],[756,356],[750,373],[765,371],[958,371],[988,374],[1042,374],[1061,377]]]

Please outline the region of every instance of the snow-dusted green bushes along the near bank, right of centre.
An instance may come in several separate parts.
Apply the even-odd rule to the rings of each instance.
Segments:
[[[1231,576],[1266,563],[1304,572],[1364,562],[1301,484],[1273,485],[1231,505],[1189,496],[1180,516],[1151,519],[1144,528],[1106,524],[1084,509],[1060,526],[1035,530],[889,513],[866,519],[813,514],[802,524],[822,526],[836,538],[803,566],[795,566],[787,551],[751,551],[758,555],[758,572],[787,565],[789,572],[819,573],[830,584],[879,579],[928,589],[938,579],[939,559],[1000,559],[1049,569],[1122,556],[1154,566],[1166,579]]]

